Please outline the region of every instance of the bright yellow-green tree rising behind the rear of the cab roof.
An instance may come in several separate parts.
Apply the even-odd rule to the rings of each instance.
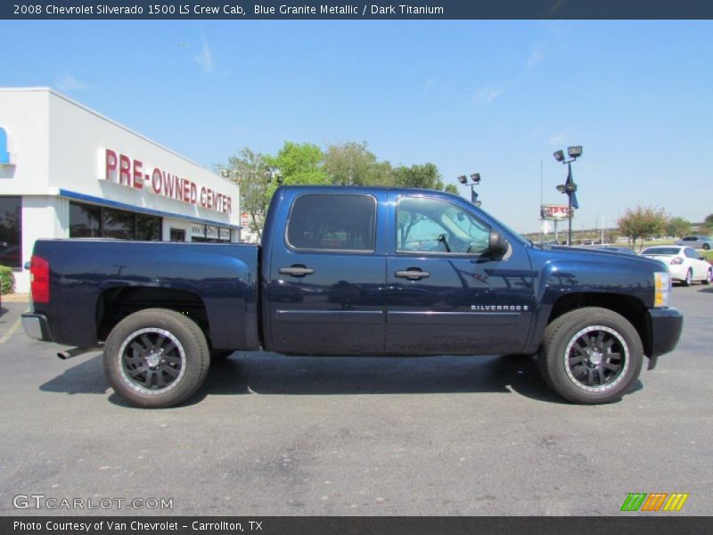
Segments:
[[[323,161],[324,152],[316,144],[291,141],[286,141],[276,156],[265,157],[267,166],[280,174],[284,185],[330,184]]]

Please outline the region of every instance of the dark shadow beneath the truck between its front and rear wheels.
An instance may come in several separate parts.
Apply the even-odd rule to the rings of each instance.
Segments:
[[[563,403],[528,357],[283,357],[234,353],[211,365],[201,390],[207,396],[235,394],[349,395],[512,393]]]

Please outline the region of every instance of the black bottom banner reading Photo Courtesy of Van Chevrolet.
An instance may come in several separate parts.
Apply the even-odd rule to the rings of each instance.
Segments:
[[[488,535],[528,533],[542,535],[687,535],[713,531],[709,517],[650,516],[605,517],[379,517],[379,516],[214,516],[128,517],[56,516],[3,517],[3,535]]]

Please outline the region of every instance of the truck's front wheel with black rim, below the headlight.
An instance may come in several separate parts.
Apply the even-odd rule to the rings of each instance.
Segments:
[[[547,325],[537,364],[545,382],[561,397],[587,405],[611,403],[635,385],[643,346],[627,318],[609,309],[586,307]]]

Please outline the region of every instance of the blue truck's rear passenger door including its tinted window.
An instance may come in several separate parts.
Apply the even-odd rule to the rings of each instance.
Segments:
[[[263,286],[271,350],[383,352],[386,258],[377,194],[345,188],[286,200],[289,213],[276,221],[286,232],[273,238]]]

